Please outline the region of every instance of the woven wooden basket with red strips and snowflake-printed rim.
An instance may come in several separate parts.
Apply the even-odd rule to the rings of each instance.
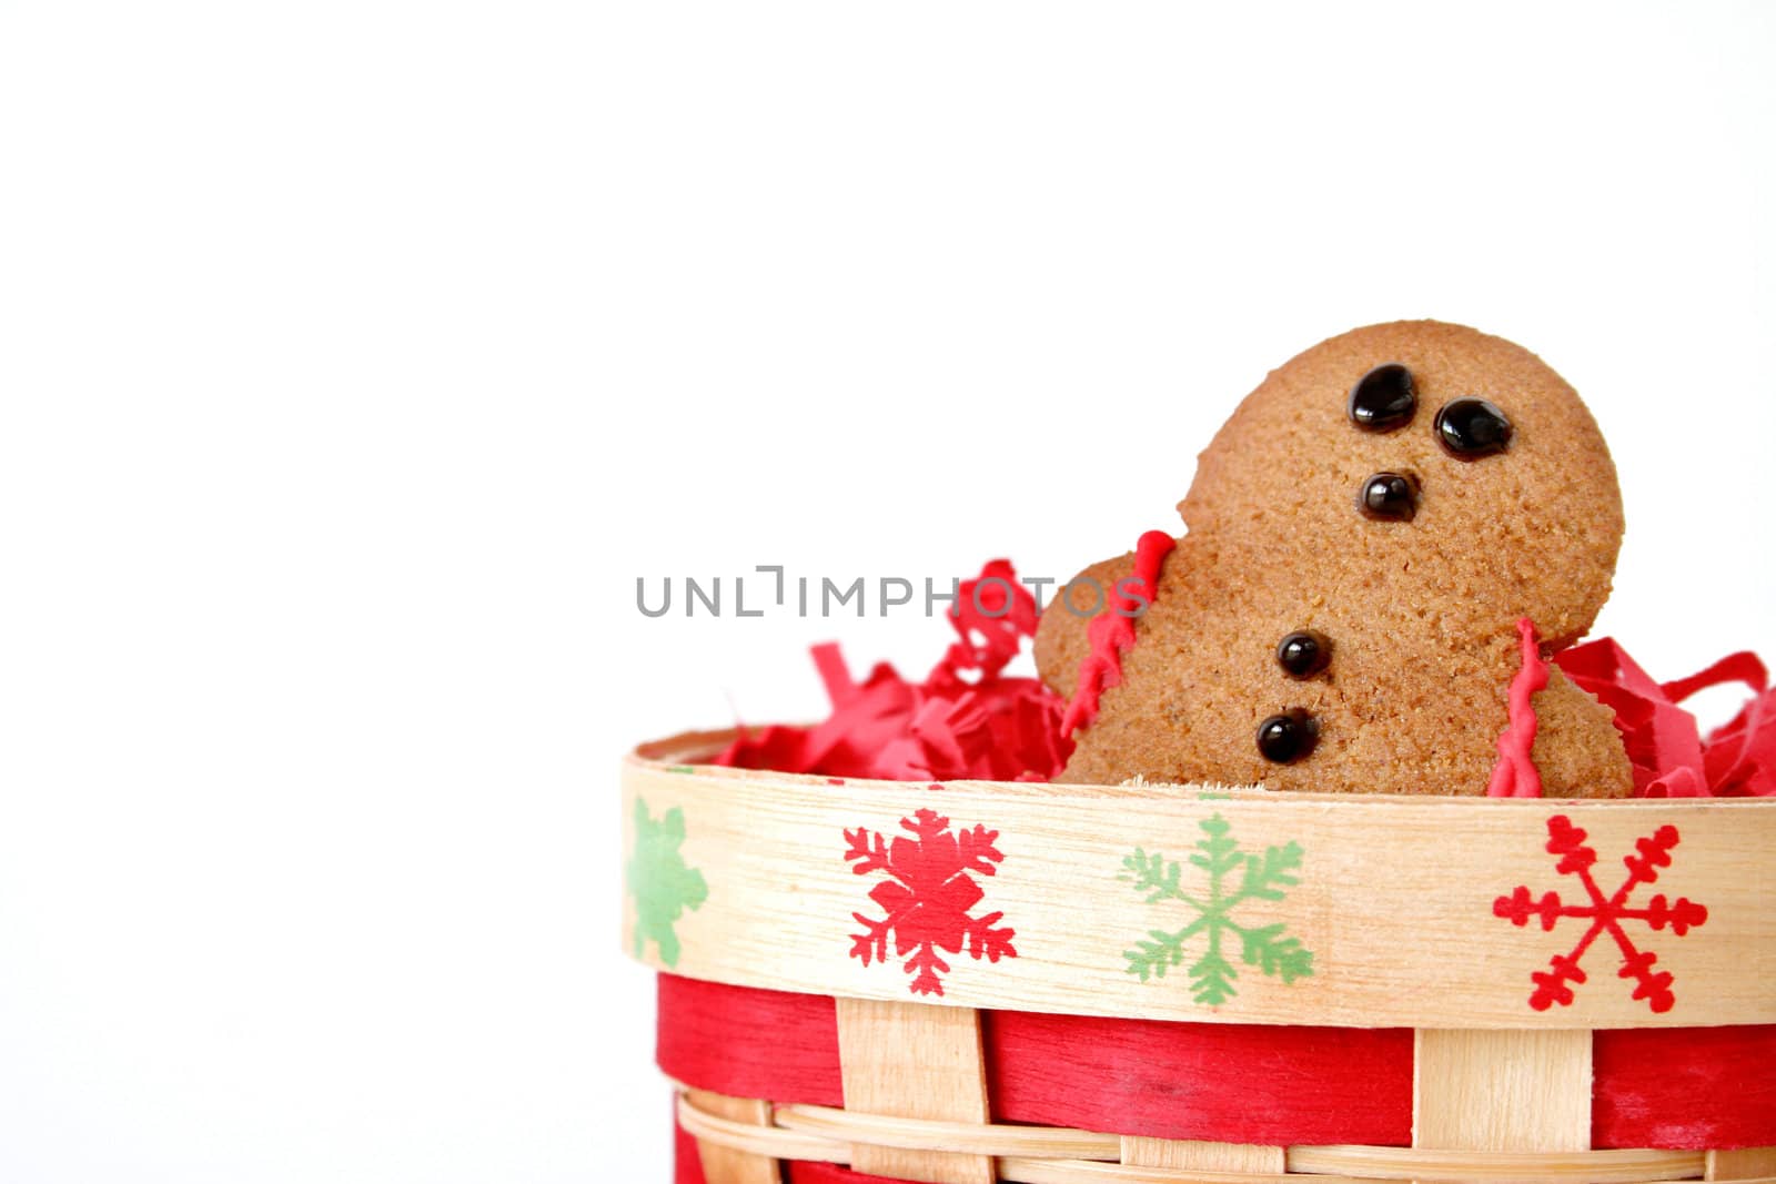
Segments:
[[[622,774],[680,1184],[1776,1184],[1776,801],[696,763],[730,738]]]

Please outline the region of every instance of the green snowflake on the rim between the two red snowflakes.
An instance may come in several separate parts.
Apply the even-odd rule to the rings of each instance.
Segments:
[[[1247,900],[1282,900],[1282,889],[1296,884],[1291,872],[1302,866],[1300,845],[1266,847],[1263,856],[1249,856],[1240,850],[1240,843],[1229,834],[1231,824],[1220,815],[1197,825],[1204,838],[1197,841],[1190,864],[1206,873],[1206,896],[1186,893],[1183,866],[1158,852],[1149,856],[1137,847],[1122,859],[1117,879],[1133,884],[1137,893],[1146,893],[1147,904],[1177,900],[1195,914],[1181,930],[1147,930],[1151,941],[1137,941],[1135,950],[1124,950],[1128,973],[1138,975],[1140,982],[1165,978],[1169,969],[1183,964],[1185,946],[1202,935],[1206,948],[1188,971],[1197,1003],[1215,1006],[1238,994],[1234,980],[1240,971],[1222,951],[1233,941],[1240,943],[1240,960],[1280,976],[1286,983],[1312,975],[1312,950],[1305,950],[1295,937],[1284,937],[1282,923],[1247,928],[1233,920],[1234,909]]]

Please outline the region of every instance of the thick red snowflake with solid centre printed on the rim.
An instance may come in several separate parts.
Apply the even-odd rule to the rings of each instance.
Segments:
[[[934,809],[902,818],[900,827],[911,838],[897,834],[892,843],[865,827],[845,831],[851,870],[856,875],[886,873],[870,889],[870,900],[886,916],[851,914],[865,928],[851,935],[851,957],[863,959],[863,966],[886,962],[892,935],[895,955],[906,959],[906,973],[913,975],[913,994],[943,994],[940,975],[948,973],[950,964],[938,950],[961,953],[966,944],[968,957],[987,962],[1018,957],[1011,944],[1016,930],[996,928],[1003,912],[968,914],[986,895],[975,875],[993,875],[995,864],[1005,859],[993,845],[998,831],[975,825],[952,833],[950,820]]]

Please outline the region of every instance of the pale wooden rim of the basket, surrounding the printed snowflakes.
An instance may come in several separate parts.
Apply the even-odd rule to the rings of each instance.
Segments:
[[[671,944],[662,950],[657,934],[638,925],[630,875],[623,943],[655,969],[842,998],[1192,1022],[1520,1030],[1776,1022],[1776,991],[1767,982],[1776,971],[1776,873],[1769,870],[1776,799],[908,783],[698,763],[735,735],[687,731],[643,744],[622,762],[625,868],[638,825],[661,825],[677,811],[684,833],[675,857],[707,888],[707,900],[686,904],[673,918]],[[973,879],[984,889],[980,909],[1002,912],[1016,930],[1016,953],[989,966],[945,951],[941,996],[915,999],[893,943],[883,948],[884,962],[852,957],[851,941],[874,909],[874,880],[852,873],[844,845],[852,831],[890,843],[904,838],[902,820],[918,811],[941,811],[957,833],[979,825],[1003,849],[1003,861]],[[1162,971],[1156,982],[1140,983],[1130,975],[1133,962],[1119,962],[1158,939],[1162,927],[1177,925],[1176,912],[1146,912],[1131,886],[1117,882],[1128,879],[1119,863],[1130,852],[1181,863],[1209,820],[1243,841],[1241,857],[1305,849],[1298,884],[1282,889],[1280,904],[1250,907],[1257,928],[1282,927],[1312,953],[1307,973],[1282,982],[1256,969],[1257,962],[1238,966],[1236,994],[1204,1001],[1183,982],[1183,962],[1172,964],[1170,976]],[[1556,825],[1588,836],[1604,893],[1621,879],[1637,843],[1673,834],[1673,850],[1659,856],[1655,879],[1629,905],[1650,907],[1657,895],[1669,911],[1693,898],[1707,909],[1705,923],[1685,932],[1669,916],[1657,932],[1650,920],[1621,923],[1627,937],[1643,935],[1641,948],[1657,953],[1648,975],[1675,975],[1669,1006],[1637,996],[1645,982],[1618,976],[1625,953],[1602,930],[1582,960],[1584,978],[1565,983],[1572,998],[1533,1005],[1533,975],[1545,975],[1550,959],[1590,925],[1566,912],[1552,925],[1542,912],[1508,916],[1506,898],[1518,888],[1531,911],[1543,893],[1584,905],[1575,877],[1558,870]],[[1423,916],[1408,921],[1410,911]]]

